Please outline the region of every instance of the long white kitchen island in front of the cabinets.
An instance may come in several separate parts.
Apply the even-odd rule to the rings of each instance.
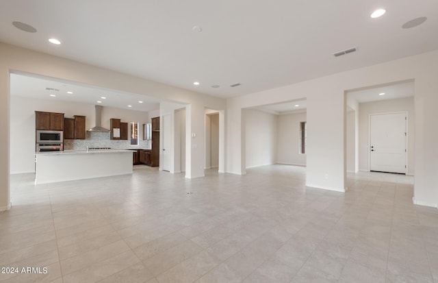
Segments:
[[[36,184],[132,174],[132,151],[72,150],[36,153]]]

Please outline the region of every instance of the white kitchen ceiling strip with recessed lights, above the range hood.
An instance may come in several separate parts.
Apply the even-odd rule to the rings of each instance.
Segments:
[[[53,90],[46,88],[53,88]],[[67,93],[68,91],[72,94]],[[11,74],[10,93],[19,97],[71,101],[146,112],[159,109],[159,99],[144,95],[120,93],[114,90],[56,82],[52,79],[20,74]],[[51,97],[51,95],[55,95],[55,97]],[[106,97],[106,99],[101,97]],[[101,101],[101,103],[97,101]],[[142,103],[138,101],[142,101]]]

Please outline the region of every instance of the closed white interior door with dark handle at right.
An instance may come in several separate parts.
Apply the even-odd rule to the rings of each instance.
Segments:
[[[370,170],[406,173],[407,114],[370,115]]]

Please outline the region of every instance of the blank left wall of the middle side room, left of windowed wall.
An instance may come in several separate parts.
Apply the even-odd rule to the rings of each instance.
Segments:
[[[276,163],[276,115],[244,110],[246,121],[246,168]]]

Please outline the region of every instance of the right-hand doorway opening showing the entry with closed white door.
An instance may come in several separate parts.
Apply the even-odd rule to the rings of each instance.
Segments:
[[[414,81],[346,91],[346,172],[414,175]]]

